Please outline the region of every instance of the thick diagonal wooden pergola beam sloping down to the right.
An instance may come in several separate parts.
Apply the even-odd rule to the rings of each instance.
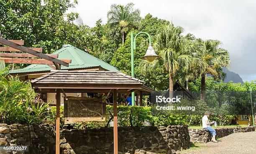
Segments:
[[[50,57],[48,55],[45,55],[41,52],[37,52],[35,50],[32,50],[32,49],[29,49],[27,47],[24,47],[22,45],[18,45],[17,43],[14,43],[14,42],[11,42],[11,41],[8,41],[8,40],[5,40],[4,38],[0,37],[0,43],[2,43],[3,45],[7,45],[9,47],[13,47],[15,49],[18,49],[18,50],[21,50],[23,52],[27,52],[31,55],[34,55],[34,56],[37,56],[37,57],[40,57],[40,58],[43,58],[45,60],[49,60],[51,62],[56,62],[60,65],[63,65],[63,66],[66,66],[66,67],[69,67],[69,63],[68,62],[65,62],[65,61],[62,61],[62,60],[58,60],[56,58],[53,58],[53,57]],[[71,63],[71,60],[70,60],[70,63]]]

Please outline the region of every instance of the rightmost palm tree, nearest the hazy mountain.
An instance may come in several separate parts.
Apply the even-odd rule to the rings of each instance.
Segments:
[[[215,80],[225,79],[225,73],[222,67],[228,67],[230,64],[229,53],[227,50],[219,48],[219,40],[197,39],[202,44],[200,57],[202,66],[200,66],[201,75],[201,101],[205,102],[205,78],[206,74],[212,75]]]

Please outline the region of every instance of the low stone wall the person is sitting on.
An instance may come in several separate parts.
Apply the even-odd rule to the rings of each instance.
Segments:
[[[225,137],[233,133],[238,132],[252,132],[255,131],[255,127],[230,127],[230,128],[216,128],[216,137]],[[190,141],[195,143],[210,142],[212,135],[205,129],[191,129],[189,130]]]

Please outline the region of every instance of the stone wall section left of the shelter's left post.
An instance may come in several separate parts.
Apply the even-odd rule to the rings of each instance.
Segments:
[[[31,154],[54,154],[54,126],[0,124],[0,145],[27,145]]]

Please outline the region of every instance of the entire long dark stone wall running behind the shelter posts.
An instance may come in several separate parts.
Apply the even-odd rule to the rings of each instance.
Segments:
[[[61,130],[61,153],[112,154],[113,128]],[[31,154],[54,154],[54,126],[0,124],[0,145],[29,145]],[[190,146],[187,126],[118,127],[120,153],[172,153]]]

